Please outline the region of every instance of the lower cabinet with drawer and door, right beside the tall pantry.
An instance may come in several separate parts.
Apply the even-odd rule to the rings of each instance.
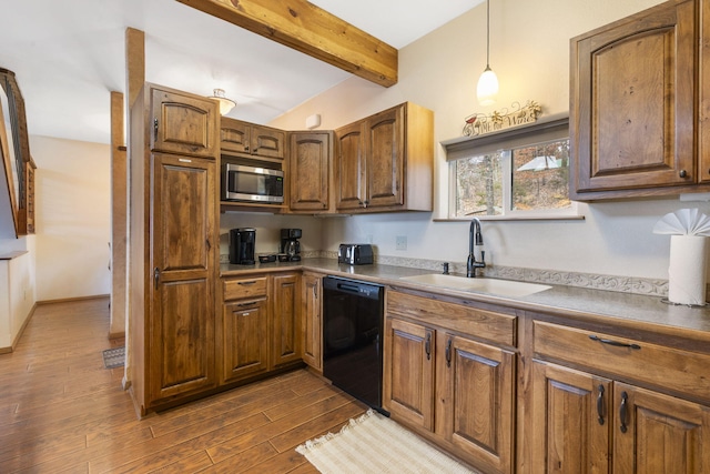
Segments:
[[[268,370],[268,300],[265,276],[223,282],[221,383]]]

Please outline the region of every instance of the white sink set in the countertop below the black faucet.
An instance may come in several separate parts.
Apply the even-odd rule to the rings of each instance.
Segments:
[[[402,276],[400,280],[422,283],[432,286],[448,288],[454,290],[476,291],[499,296],[521,297],[549,290],[551,286],[517,282],[511,280],[496,280],[486,278],[467,279],[465,276],[445,275],[442,273],[428,273],[416,276]]]

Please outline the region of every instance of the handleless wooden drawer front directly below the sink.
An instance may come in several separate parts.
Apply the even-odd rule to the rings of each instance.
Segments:
[[[426,324],[447,327],[500,344],[516,344],[517,317],[396,291],[387,292],[387,314],[396,313]]]

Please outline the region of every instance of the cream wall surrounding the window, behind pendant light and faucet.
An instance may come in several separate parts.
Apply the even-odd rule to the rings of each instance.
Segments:
[[[490,65],[498,74],[496,105],[476,102],[476,82],[485,68],[485,3],[399,51],[399,82],[384,89],[348,79],[290,111],[271,125],[303,129],[320,113],[322,129],[335,129],[387,107],[413,101],[435,112],[435,140],[462,135],[474,112],[503,110],[535,100],[546,115],[569,110],[569,39],[659,3],[657,0],[499,0],[490,3]],[[468,223],[433,222],[447,216],[447,165],[437,147],[435,212],[362,215],[324,221],[324,250],[368,235],[382,255],[464,262]],[[668,278],[668,236],[653,224],[666,213],[708,203],[678,199],[580,204],[585,221],[485,222],[488,255],[499,265],[580,271],[626,276]],[[395,238],[407,236],[407,251]],[[487,256],[488,260],[488,256]]]

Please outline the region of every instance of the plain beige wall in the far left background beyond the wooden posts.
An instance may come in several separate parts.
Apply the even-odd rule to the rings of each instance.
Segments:
[[[37,300],[109,294],[110,147],[31,135],[30,150],[37,163]]]

